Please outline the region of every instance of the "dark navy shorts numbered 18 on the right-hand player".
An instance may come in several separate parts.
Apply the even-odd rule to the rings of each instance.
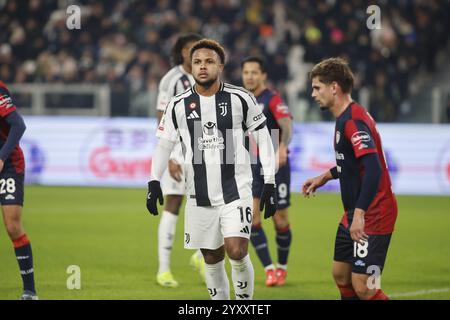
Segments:
[[[370,234],[369,240],[361,245],[352,240],[349,229],[339,224],[334,244],[334,260],[352,265],[352,272],[373,274],[378,267],[381,274],[386,261],[392,234]]]

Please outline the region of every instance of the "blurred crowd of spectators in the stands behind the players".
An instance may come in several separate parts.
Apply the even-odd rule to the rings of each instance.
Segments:
[[[80,30],[66,8],[82,10]],[[382,29],[366,26],[370,4]],[[151,115],[177,35],[198,32],[227,49],[225,79],[240,84],[240,61],[267,59],[291,103],[309,95],[307,72],[329,56],[349,59],[357,90],[370,90],[378,121],[396,121],[418,73],[432,73],[447,47],[449,1],[0,0],[0,79],[6,83],[109,83],[115,115]],[[357,95],[357,92],[356,92]],[[294,98],[292,98],[294,97]],[[357,97],[357,96],[356,96]]]

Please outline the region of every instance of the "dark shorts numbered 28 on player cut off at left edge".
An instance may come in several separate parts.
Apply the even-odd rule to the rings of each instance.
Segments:
[[[23,206],[23,173],[0,173],[0,204]]]

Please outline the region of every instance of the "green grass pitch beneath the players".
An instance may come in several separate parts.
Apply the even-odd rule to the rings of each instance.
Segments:
[[[209,299],[183,249],[180,216],[172,255],[177,289],[161,288],[157,271],[159,217],[145,208],[145,190],[26,188],[24,226],[34,253],[40,299]],[[399,217],[382,286],[397,299],[450,299],[450,197],[399,196]],[[251,249],[255,299],[338,299],[331,277],[334,236],[342,215],[339,195],[292,196],[293,243],[284,287],[266,288]],[[264,221],[272,258],[273,224]],[[81,289],[66,286],[67,267],[81,268]],[[227,262],[229,270],[229,264]],[[438,289],[436,292],[427,290]],[[12,244],[0,231],[0,299],[18,299],[21,280]]]

